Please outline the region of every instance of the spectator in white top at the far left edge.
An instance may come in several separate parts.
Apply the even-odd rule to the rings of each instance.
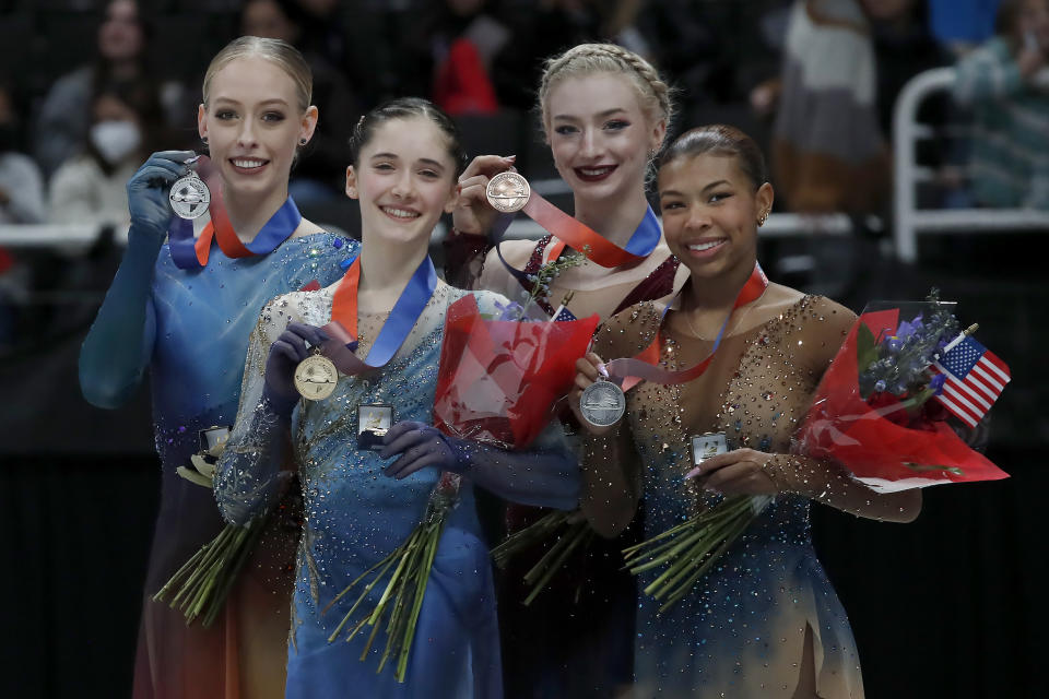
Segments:
[[[0,224],[40,223],[44,178],[33,158],[19,152],[22,132],[13,102],[11,85],[0,80]]]

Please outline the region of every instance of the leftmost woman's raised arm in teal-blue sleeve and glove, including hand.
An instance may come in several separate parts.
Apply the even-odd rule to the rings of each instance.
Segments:
[[[191,151],[154,153],[128,182],[128,247],[80,351],[80,388],[98,407],[127,401],[153,354],[156,320],[150,294],[172,220],[167,191],[187,174],[182,163],[192,156]]]

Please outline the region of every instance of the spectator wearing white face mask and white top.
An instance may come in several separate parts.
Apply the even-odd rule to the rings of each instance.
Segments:
[[[114,82],[98,88],[91,115],[82,152],[51,178],[48,217],[126,228],[128,180],[158,145],[160,99],[146,81]]]

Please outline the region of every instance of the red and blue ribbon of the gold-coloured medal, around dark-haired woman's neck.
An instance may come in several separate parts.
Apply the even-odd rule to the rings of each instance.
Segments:
[[[351,376],[382,367],[393,358],[434,295],[434,289],[437,288],[437,271],[429,257],[420,262],[393,305],[390,317],[382,323],[382,330],[368,351],[368,356],[363,360],[353,354],[357,347],[360,284],[361,258],[357,257],[335,289],[331,303],[331,322],[321,328],[329,336],[329,340],[320,345],[321,354],[331,359],[340,371]]]

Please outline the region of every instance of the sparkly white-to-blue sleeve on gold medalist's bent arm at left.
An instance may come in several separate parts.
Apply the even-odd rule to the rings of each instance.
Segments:
[[[262,395],[267,354],[280,334],[271,322],[273,304],[262,309],[251,333],[237,419],[215,466],[215,500],[233,524],[247,524],[269,511],[291,477],[291,472],[282,471],[291,453],[291,422]]]

